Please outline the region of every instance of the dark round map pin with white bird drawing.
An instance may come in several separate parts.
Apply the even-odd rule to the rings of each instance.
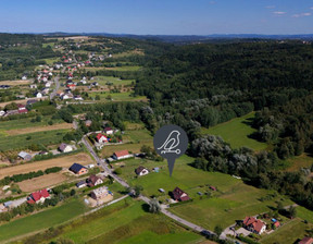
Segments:
[[[178,125],[164,125],[155,133],[153,145],[155,151],[167,159],[170,175],[172,176],[176,158],[184,155],[188,147],[186,132]]]

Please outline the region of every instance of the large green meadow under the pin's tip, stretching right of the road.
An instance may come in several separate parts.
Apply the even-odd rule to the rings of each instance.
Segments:
[[[211,230],[217,224],[226,228],[235,220],[243,219],[247,215],[270,211],[271,206],[277,206],[277,200],[283,200],[284,205],[292,204],[291,200],[279,195],[271,200],[262,202],[261,197],[274,194],[274,192],[249,186],[228,174],[195,169],[188,164],[192,160],[187,156],[177,159],[172,178],[168,175],[166,161],[126,160],[122,168],[122,176],[132,185],[141,185],[143,194],[158,196],[163,202],[170,198],[167,195],[170,191],[173,191],[175,186],[180,187],[193,202],[171,207],[171,211]],[[148,175],[136,178],[134,170],[139,166],[143,166],[150,171],[156,166],[161,169],[159,173],[151,172]],[[210,191],[209,185],[215,186],[217,191]],[[164,188],[166,193],[160,193],[159,188]],[[211,192],[212,197],[203,196],[201,199],[198,192]]]

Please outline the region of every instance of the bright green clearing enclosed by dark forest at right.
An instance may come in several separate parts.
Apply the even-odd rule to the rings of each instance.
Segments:
[[[254,150],[262,150],[267,147],[265,143],[260,143],[248,136],[255,132],[249,124],[249,121],[254,117],[251,112],[245,117],[233,119],[228,122],[217,124],[210,129],[202,129],[202,134],[220,135],[229,143],[233,148],[249,147]]]

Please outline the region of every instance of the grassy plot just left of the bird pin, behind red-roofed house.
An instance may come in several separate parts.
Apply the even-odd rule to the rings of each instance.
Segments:
[[[142,145],[153,146],[152,136],[147,130],[125,131],[123,135],[125,144],[104,146],[101,150],[102,157],[112,156],[117,150],[128,150],[132,152],[140,152]]]

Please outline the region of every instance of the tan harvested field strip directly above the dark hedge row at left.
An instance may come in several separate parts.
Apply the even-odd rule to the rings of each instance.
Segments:
[[[93,160],[90,158],[88,154],[79,152],[77,155],[70,155],[70,156],[58,157],[58,158],[42,160],[42,161],[28,162],[28,163],[23,163],[23,164],[12,166],[12,167],[1,169],[0,179],[10,176],[13,174],[27,173],[32,171],[38,171],[38,170],[46,170],[52,167],[70,167],[74,162],[82,163],[82,164],[89,164],[89,163],[92,163]]]

